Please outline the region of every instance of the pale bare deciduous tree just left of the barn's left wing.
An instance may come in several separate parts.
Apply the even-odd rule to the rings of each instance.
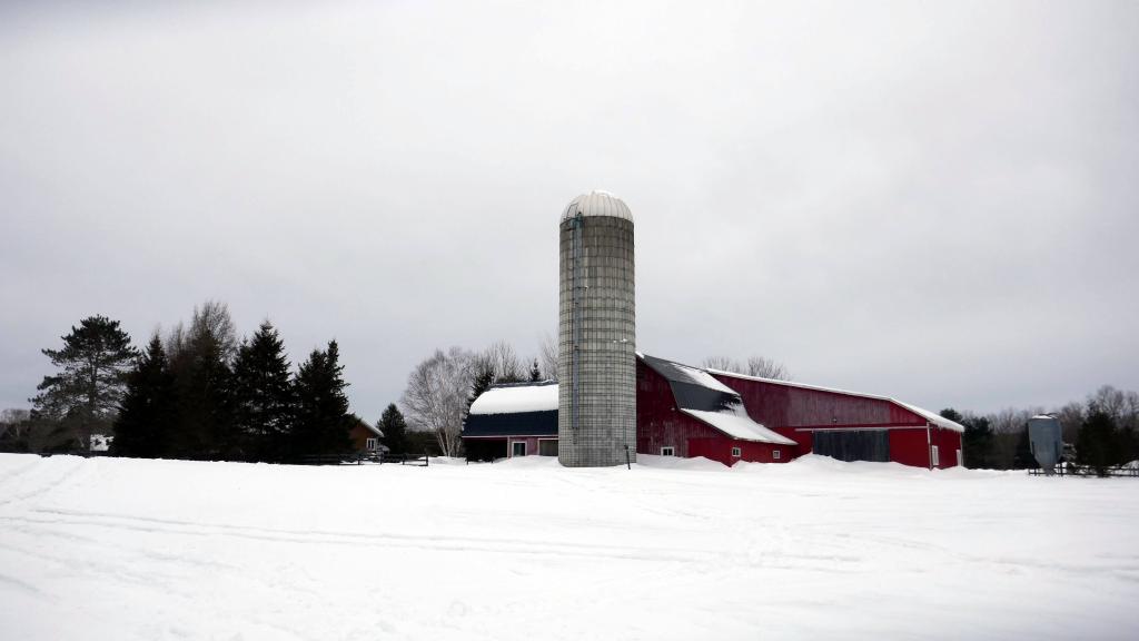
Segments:
[[[443,456],[462,451],[462,415],[474,366],[474,355],[465,349],[437,349],[412,370],[400,399],[408,425],[434,433]]]

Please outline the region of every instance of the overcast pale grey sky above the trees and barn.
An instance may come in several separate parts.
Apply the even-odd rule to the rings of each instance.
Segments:
[[[1137,63],[1133,1],[5,3],[0,407],[80,318],[212,298],[294,364],[339,340],[375,420],[436,347],[536,352],[593,188],[648,354],[1139,389]]]

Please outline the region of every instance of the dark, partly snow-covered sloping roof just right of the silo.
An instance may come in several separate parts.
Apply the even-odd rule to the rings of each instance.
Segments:
[[[669,381],[681,413],[740,440],[795,445],[794,440],[753,421],[744,408],[744,399],[704,370],[644,354],[638,356]]]

